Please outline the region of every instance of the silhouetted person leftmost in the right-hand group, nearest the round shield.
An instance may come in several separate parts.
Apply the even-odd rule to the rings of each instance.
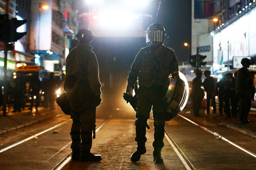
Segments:
[[[204,98],[204,91],[201,89],[201,86],[203,85],[201,80],[202,74],[203,73],[201,71],[196,71],[196,78],[194,78],[192,81],[191,98],[193,100],[194,116],[196,117],[200,116],[199,110]]]

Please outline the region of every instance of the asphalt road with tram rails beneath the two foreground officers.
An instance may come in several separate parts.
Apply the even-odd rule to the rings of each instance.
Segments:
[[[184,113],[181,114],[186,116]],[[111,118],[108,119],[110,116]],[[139,162],[133,163],[130,161],[130,156],[136,149],[134,111],[99,108],[96,118],[97,127],[104,121],[105,124],[96,132],[91,152],[101,154],[102,160],[90,163],[69,161],[62,169],[254,169],[256,167],[256,159],[248,153],[181,117],[165,124],[168,135],[164,138],[165,145],[162,149],[164,164],[157,165],[153,162],[152,117],[148,121],[151,129],[147,129],[147,152],[141,156]],[[69,129],[72,121],[68,120],[69,116],[60,116],[0,136],[0,149],[3,149],[67,121],[55,129],[1,152],[1,169],[52,169],[71,151]],[[200,122],[199,118],[193,121],[256,153],[254,138],[225,127],[218,127],[214,123]]]

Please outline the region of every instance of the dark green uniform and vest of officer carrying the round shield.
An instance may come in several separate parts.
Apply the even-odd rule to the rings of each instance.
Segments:
[[[140,49],[139,53],[131,66],[132,70],[128,76],[126,92],[132,93],[132,86],[138,78],[138,102],[135,117],[135,130],[137,150],[145,148],[147,119],[150,118],[151,109],[153,110],[154,120],[154,152],[161,151],[164,146],[164,124],[165,109],[162,101],[162,92],[167,78],[172,72],[178,71],[178,62],[172,48],[164,47],[158,55],[154,55],[151,46]],[[146,152],[146,150],[142,151]],[[142,153],[141,152],[141,153]],[[154,155],[153,152],[153,155]],[[142,153],[143,154],[143,153]]]

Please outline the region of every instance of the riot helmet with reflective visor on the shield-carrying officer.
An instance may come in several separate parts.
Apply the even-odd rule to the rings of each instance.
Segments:
[[[146,31],[146,42],[163,42],[166,45],[167,38],[166,31],[160,24],[151,24]]]

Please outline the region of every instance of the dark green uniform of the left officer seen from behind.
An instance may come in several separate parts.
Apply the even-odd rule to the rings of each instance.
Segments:
[[[92,46],[81,42],[70,51],[66,61],[66,76],[69,75],[74,75],[77,79],[72,88],[67,88],[71,119],[73,119],[70,131],[71,149],[90,150],[96,108],[92,105],[88,106],[88,103],[93,100],[92,96],[101,95],[99,66]]]

